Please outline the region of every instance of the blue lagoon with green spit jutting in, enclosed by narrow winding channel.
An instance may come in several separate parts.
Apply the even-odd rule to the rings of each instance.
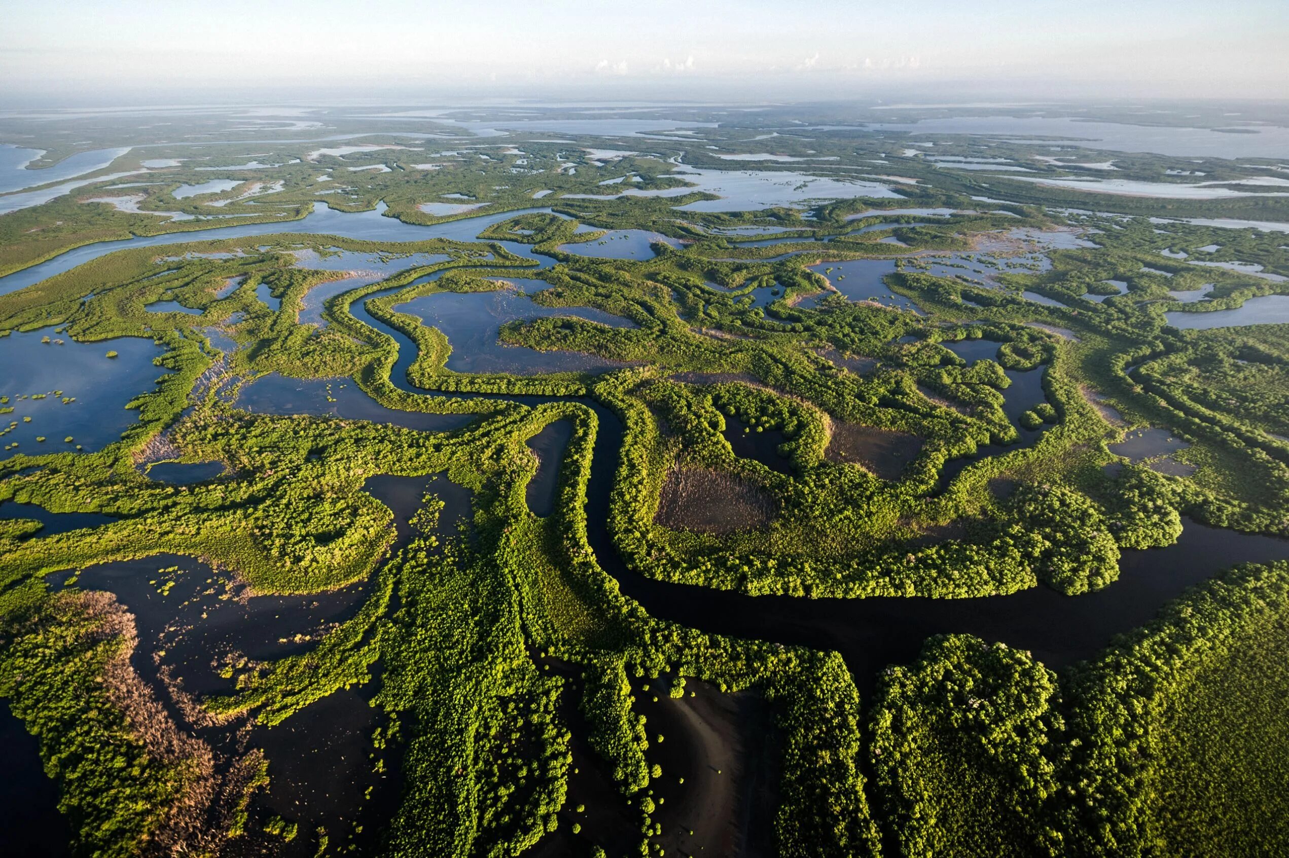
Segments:
[[[570,316],[611,327],[634,327],[620,316],[589,307],[541,307],[513,291],[436,292],[414,298],[394,308],[419,317],[425,325],[447,335],[452,353],[447,370],[452,372],[585,372],[623,366],[594,354],[538,352],[498,341],[501,326],[518,319]]]

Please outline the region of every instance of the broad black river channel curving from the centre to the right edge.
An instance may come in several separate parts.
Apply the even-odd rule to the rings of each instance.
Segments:
[[[837,649],[864,693],[871,692],[886,665],[911,662],[923,640],[937,634],[1002,640],[1031,651],[1049,667],[1065,667],[1094,656],[1114,635],[1148,622],[1164,603],[1222,569],[1289,559],[1289,540],[1187,520],[1176,545],[1124,551],[1119,581],[1079,596],[1038,586],[978,599],[800,599],[654,581],[628,569],[608,536],[608,497],[623,428],[607,408],[592,407],[601,425],[586,491],[588,537],[623,594],[657,618],[708,633]]]

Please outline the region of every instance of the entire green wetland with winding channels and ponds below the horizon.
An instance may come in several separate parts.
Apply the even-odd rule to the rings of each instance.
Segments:
[[[0,119],[0,852],[1289,848],[1283,167],[794,110]]]

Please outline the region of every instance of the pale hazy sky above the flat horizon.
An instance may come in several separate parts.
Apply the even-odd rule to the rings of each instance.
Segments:
[[[1285,0],[9,3],[0,102],[1289,98]]]

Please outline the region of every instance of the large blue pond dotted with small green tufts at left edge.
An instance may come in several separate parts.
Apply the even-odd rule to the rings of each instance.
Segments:
[[[41,343],[44,336],[50,343]],[[54,344],[55,339],[63,344]],[[108,350],[117,357],[106,357]],[[0,415],[0,428],[17,424],[0,434],[0,457],[62,452],[76,444],[94,451],[119,441],[138,421],[138,412],[125,405],[155,389],[156,380],[169,372],[152,363],[160,354],[156,343],[134,336],[77,343],[52,327],[0,336],[0,396],[9,397],[0,405],[13,408]],[[72,401],[64,403],[64,398]],[[4,450],[13,443],[18,446]]]

